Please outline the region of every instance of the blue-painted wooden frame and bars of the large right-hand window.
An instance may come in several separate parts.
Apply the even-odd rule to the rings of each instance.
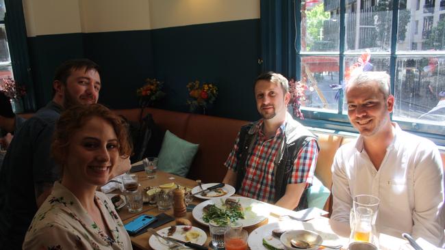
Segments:
[[[300,1],[294,0],[283,0],[283,6],[293,6],[294,15],[282,15],[282,13],[287,13],[288,10],[285,10],[283,6],[278,6],[274,3],[274,0],[261,0],[261,19],[262,19],[262,59],[264,60],[264,64],[262,65],[262,70],[275,70],[277,72],[281,72],[286,77],[294,78],[298,81],[301,80],[301,59],[304,56],[308,55],[335,55],[339,57],[339,83],[344,79],[344,60],[345,57],[350,56],[359,56],[361,52],[350,53],[345,52],[345,13],[346,13],[346,0],[340,1],[340,44],[338,52],[326,52],[326,51],[301,51],[301,4]],[[392,20],[398,20],[398,7],[399,0],[392,1]],[[272,13],[272,14],[271,14]],[[285,16],[290,16],[291,18],[285,19]],[[275,17],[275,20],[273,19]],[[273,30],[273,34],[270,34],[270,26],[269,29],[265,29],[265,25],[269,25],[270,22],[276,22],[277,20],[282,23],[288,22],[292,23],[295,26],[294,32],[295,37],[294,40],[284,40],[285,36],[280,36],[282,32],[285,31],[283,27],[277,27],[275,25],[275,30]],[[390,51],[385,53],[372,53],[372,55],[385,55],[390,58],[390,70],[388,74],[390,74],[391,79],[391,92],[394,93],[395,88],[395,78],[396,78],[396,61],[398,58],[403,58],[407,56],[419,57],[419,56],[428,56],[428,55],[444,55],[445,51],[441,51],[437,53],[429,53],[427,51],[396,51],[397,46],[397,30],[398,22],[392,22],[392,33],[390,38]],[[265,39],[266,38],[266,39]],[[281,44],[289,44],[292,42],[294,47],[288,51],[283,51],[282,55],[286,58],[286,61],[292,59],[295,64],[277,64],[277,61],[281,61],[279,55],[275,55],[274,57],[269,57],[267,55],[267,49],[274,50],[275,46],[280,46]],[[279,52],[279,51],[275,51]],[[344,102],[344,93],[341,91],[338,100],[338,111],[337,112],[327,112],[322,111],[321,109],[312,109],[302,107],[302,112],[305,117],[305,120],[301,120],[300,122],[305,126],[311,126],[322,129],[335,130],[338,132],[352,132],[357,133],[357,130],[351,126],[351,123],[348,120],[348,116],[343,113],[342,107]],[[391,119],[393,120],[392,114]],[[439,125],[431,125],[420,122],[408,122],[403,120],[393,120],[397,122],[399,126],[403,130],[407,130],[410,133],[414,133],[416,135],[420,135],[422,137],[427,137],[434,141],[437,145],[445,145],[445,126]]]

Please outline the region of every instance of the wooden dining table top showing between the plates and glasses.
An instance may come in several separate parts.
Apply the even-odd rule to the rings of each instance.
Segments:
[[[171,173],[166,173],[164,171],[157,171],[156,177],[153,179],[147,178],[144,171],[136,172],[135,173],[138,176],[138,182],[142,186],[142,188],[151,186],[160,186],[162,184],[175,182],[175,184],[179,184],[180,186],[185,186],[190,189],[194,188],[194,186],[197,186],[197,183],[195,180],[190,180],[187,178],[183,178],[181,176],[176,176]],[[197,197],[194,197],[191,204],[197,205],[201,202],[204,202],[205,200],[199,199]],[[348,245],[348,236],[349,236],[349,225],[345,225],[344,223],[338,223],[335,221],[329,220],[327,217],[316,217],[314,219],[311,219],[310,221],[296,221],[293,219],[290,219],[290,217],[283,217],[283,215],[291,215],[293,217],[301,216],[300,212],[295,212],[292,210],[288,210],[285,208],[281,208],[279,206],[275,206],[272,204],[267,204],[266,206],[267,218],[256,224],[251,225],[250,227],[244,227],[244,229],[249,232],[249,235],[251,233],[261,227],[262,225],[270,224],[270,223],[292,223],[292,227],[295,229],[306,229],[306,230],[313,230],[316,232],[321,232],[322,236],[325,236],[325,244],[330,245],[344,245],[344,248],[347,249]],[[173,208],[170,208],[166,211],[160,211],[157,209],[156,206],[150,205],[148,203],[144,203],[142,211],[138,213],[130,213],[128,212],[128,209],[126,206],[118,210],[118,214],[120,218],[122,219],[123,223],[128,223],[129,221],[135,219],[136,217],[140,216],[140,214],[149,214],[156,216],[157,214],[160,214],[161,212],[165,212],[166,214],[170,215],[171,217],[174,217],[173,214]],[[192,225],[194,227],[199,227],[201,230],[203,230],[207,234],[207,240],[205,242],[205,246],[209,246],[209,242],[211,242],[212,238],[209,234],[209,227],[207,225],[203,225],[199,223],[198,221],[194,220],[192,217],[192,212],[188,211],[185,217],[181,217],[188,219],[192,222]],[[285,221],[290,220],[290,221]],[[284,222],[283,222],[284,221]],[[161,230],[164,227],[170,227],[171,225],[175,225],[175,221],[171,221],[169,223],[166,223],[164,225],[161,225],[160,227],[156,227],[155,230]],[[332,238],[334,236],[334,238]],[[131,243],[133,245],[133,249],[152,249],[149,245],[149,238],[151,237],[151,233],[144,232],[143,234],[140,234],[138,236],[130,237]],[[331,237],[331,240],[327,239]],[[403,249],[400,246],[407,245],[407,241],[403,240],[401,238],[396,238],[393,236],[388,236],[381,234],[380,237],[380,249]],[[261,248],[261,247],[260,247]],[[209,249],[212,249],[209,247]],[[409,248],[407,248],[409,249]]]

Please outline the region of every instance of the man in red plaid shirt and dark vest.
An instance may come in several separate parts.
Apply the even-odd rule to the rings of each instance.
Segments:
[[[257,77],[254,87],[262,119],[244,126],[238,133],[225,162],[228,170],[223,182],[236,186],[237,193],[245,197],[291,210],[297,206],[304,208],[300,199],[314,176],[318,156],[316,137],[287,112],[290,93],[285,77],[266,72]],[[250,138],[249,143],[245,143],[246,137]],[[292,144],[296,146],[287,147]],[[294,152],[287,152],[289,148]],[[287,167],[282,161],[286,158]]]

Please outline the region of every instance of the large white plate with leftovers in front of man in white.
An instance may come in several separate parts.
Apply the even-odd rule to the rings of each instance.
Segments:
[[[331,230],[328,230],[326,225],[312,225],[311,223],[305,223],[302,221],[285,220],[262,225],[261,227],[253,230],[251,234],[249,234],[247,244],[251,249],[267,250],[266,247],[263,246],[263,239],[265,238],[273,247],[284,249],[284,246],[281,244],[279,238],[272,236],[272,230],[275,229],[310,230],[320,234],[323,239],[323,244],[325,245],[346,245],[348,242],[348,238],[340,238],[338,235],[330,232]]]

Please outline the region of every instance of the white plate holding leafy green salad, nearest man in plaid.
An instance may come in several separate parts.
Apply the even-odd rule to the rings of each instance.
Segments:
[[[207,199],[205,202],[201,202],[197,206],[193,208],[192,216],[193,218],[203,225],[208,225],[203,220],[203,208],[208,204],[214,204],[219,208],[223,207],[223,204],[227,198],[220,199]],[[236,199],[240,201],[242,208],[244,208],[244,217],[245,219],[239,219],[238,221],[242,223],[244,227],[249,227],[251,225],[256,225],[265,219],[268,216],[268,204],[264,202],[259,202],[256,199],[246,198],[246,197],[231,197],[231,199]]]

